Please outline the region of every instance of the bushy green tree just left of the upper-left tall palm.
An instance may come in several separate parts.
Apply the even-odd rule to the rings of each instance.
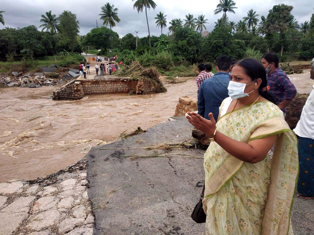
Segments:
[[[21,53],[30,56],[34,60],[34,51],[40,48],[40,43],[37,40],[37,28],[34,25],[30,25],[22,29],[22,46]]]

